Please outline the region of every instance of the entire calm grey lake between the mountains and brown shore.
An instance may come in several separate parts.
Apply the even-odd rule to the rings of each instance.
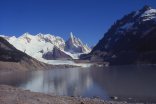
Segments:
[[[156,66],[72,68],[0,73],[0,84],[54,95],[156,98]]]

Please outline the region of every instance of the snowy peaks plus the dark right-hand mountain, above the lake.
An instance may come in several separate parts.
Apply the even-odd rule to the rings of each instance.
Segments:
[[[42,62],[80,58],[92,62],[106,62],[109,65],[155,64],[156,9],[144,6],[123,16],[110,27],[92,50],[72,32],[67,41],[58,36],[41,33],[37,35],[25,33],[20,37],[1,35],[1,37],[24,54]],[[6,59],[16,61],[14,56],[11,56],[11,59],[10,56],[3,58],[4,53],[2,51],[0,56],[3,61]],[[13,54],[9,51],[6,53]]]

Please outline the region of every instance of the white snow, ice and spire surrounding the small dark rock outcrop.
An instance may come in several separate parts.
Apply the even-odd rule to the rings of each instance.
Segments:
[[[70,33],[70,37],[67,41],[63,38],[51,34],[36,34],[32,35],[28,32],[19,37],[0,35],[5,38],[10,44],[16,47],[18,50],[25,52],[29,56],[48,64],[53,65],[75,65],[75,66],[90,66],[90,64],[77,64],[72,59],[78,59],[81,54],[86,54],[91,51],[91,48],[84,44],[79,38],[75,37],[73,33]],[[70,47],[69,49],[67,48]],[[54,47],[69,55],[71,60],[51,59],[46,60],[43,55],[48,52],[53,52]]]

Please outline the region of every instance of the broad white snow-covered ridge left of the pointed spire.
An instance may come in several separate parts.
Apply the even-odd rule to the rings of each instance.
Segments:
[[[4,37],[17,49],[36,59],[42,58],[43,54],[52,51],[54,46],[59,47],[60,49],[65,47],[65,42],[62,38],[50,34],[44,35],[40,33],[34,36],[29,33],[24,33],[18,38],[15,36]]]

